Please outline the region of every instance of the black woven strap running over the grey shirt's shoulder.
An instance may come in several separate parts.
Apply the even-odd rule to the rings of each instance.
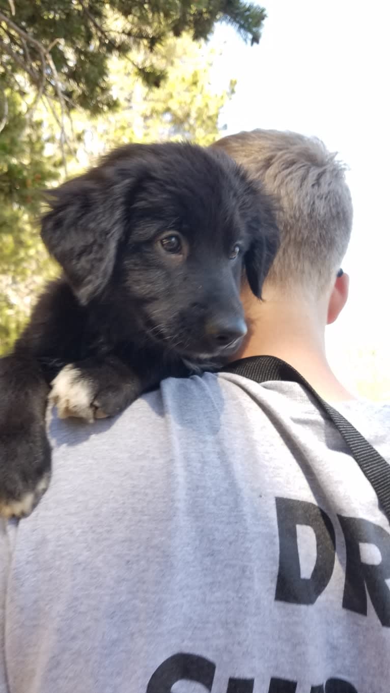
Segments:
[[[323,400],[315,389],[307,383],[295,368],[275,356],[250,356],[228,364],[222,371],[236,373],[244,378],[255,380],[256,383],[265,383],[269,380],[287,380],[303,385],[319,403],[328,418],[334,423],[342,437],[346,441],[355,461],[366,475],[368,481],[378,496],[382,510],[390,522],[390,465],[368,443],[361,433],[345,419],[340,412]]]

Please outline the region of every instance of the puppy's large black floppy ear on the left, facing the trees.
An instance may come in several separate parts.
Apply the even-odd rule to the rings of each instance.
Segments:
[[[124,231],[124,197],[124,181],[110,175],[110,169],[95,169],[50,193],[42,240],[82,305],[111,277]]]

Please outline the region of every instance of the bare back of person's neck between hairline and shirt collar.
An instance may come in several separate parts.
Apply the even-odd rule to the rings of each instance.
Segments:
[[[326,316],[318,304],[271,291],[264,295],[263,301],[244,293],[243,304],[248,335],[235,359],[277,356],[296,368],[325,400],[354,398],[339,383],[328,364],[325,355]]]

